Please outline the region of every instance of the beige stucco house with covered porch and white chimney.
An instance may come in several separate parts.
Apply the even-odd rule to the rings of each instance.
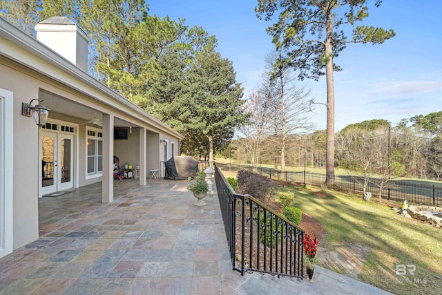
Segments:
[[[140,166],[139,185],[180,155],[180,133],[88,75],[87,37],[73,21],[36,30],[0,17],[0,257],[39,237],[41,196],[102,182],[112,202],[114,155]],[[50,109],[45,126],[22,115],[32,99]]]

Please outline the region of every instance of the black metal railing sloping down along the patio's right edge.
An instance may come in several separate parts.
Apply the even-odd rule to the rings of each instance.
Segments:
[[[302,278],[304,232],[252,196],[236,193],[215,164],[233,269]]]

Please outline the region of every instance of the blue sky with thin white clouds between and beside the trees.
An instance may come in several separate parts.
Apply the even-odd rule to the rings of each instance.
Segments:
[[[374,1],[373,1],[374,2]],[[218,38],[218,52],[233,61],[244,98],[260,84],[265,55],[273,49],[253,10],[256,0],[153,0],[151,15],[186,19]],[[367,25],[393,28],[396,36],[381,45],[349,44],[336,64],[335,129],[364,120],[403,118],[442,111],[442,1],[384,0],[370,6]],[[326,102],[325,78],[297,82],[311,98]],[[325,129],[325,106],[317,105],[312,122]]]

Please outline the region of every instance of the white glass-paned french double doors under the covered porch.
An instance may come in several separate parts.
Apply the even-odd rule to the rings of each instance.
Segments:
[[[73,187],[74,135],[41,131],[40,145],[40,195]]]

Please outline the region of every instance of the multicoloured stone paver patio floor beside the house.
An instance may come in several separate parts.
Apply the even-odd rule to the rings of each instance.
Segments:
[[[232,271],[217,196],[196,207],[188,184],[115,180],[110,204],[101,183],[40,198],[40,238],[0,259],[0,294],[253,294],[257,278]],[[327,294],[298,281],[280,294]]]

